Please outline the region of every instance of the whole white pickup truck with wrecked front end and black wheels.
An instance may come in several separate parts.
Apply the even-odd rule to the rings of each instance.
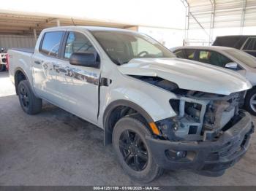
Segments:
[[[220,176],[249,147],[254,125],[238,106],[250,83],[176,58],[149,36],[48,28],[34,50],[8,50],[8,57],[24,112],[39,113],[44,99],[102,128],[105,144],[139,182],[163,169]]]

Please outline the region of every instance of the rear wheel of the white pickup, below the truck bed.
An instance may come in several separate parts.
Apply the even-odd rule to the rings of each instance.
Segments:
[[[20,106],[27,114],[37,114],[42,109],[42,99],[37,98],[31,90],[28,80],[23,80],[18,85]]]

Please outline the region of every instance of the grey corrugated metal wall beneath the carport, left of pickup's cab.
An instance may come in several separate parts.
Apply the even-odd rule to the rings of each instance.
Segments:
[[[13,47],[32,48],[35,44],[34,36],[0,35],[0,47],[6,49]]]

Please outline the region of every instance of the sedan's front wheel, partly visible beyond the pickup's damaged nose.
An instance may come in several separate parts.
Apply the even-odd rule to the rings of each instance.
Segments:
[[[256,115],[256,88],[253,88],[246,93],[244,107],[248,112]]]

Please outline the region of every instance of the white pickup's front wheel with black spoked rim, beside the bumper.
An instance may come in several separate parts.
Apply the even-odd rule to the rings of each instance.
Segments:
[[[146,125],[132,117],[124,117],[113,130],[113,147],[125,173],[138,182],[151,182],[162,175],[162,168],[154,162],[146,144],[151,133]]]

